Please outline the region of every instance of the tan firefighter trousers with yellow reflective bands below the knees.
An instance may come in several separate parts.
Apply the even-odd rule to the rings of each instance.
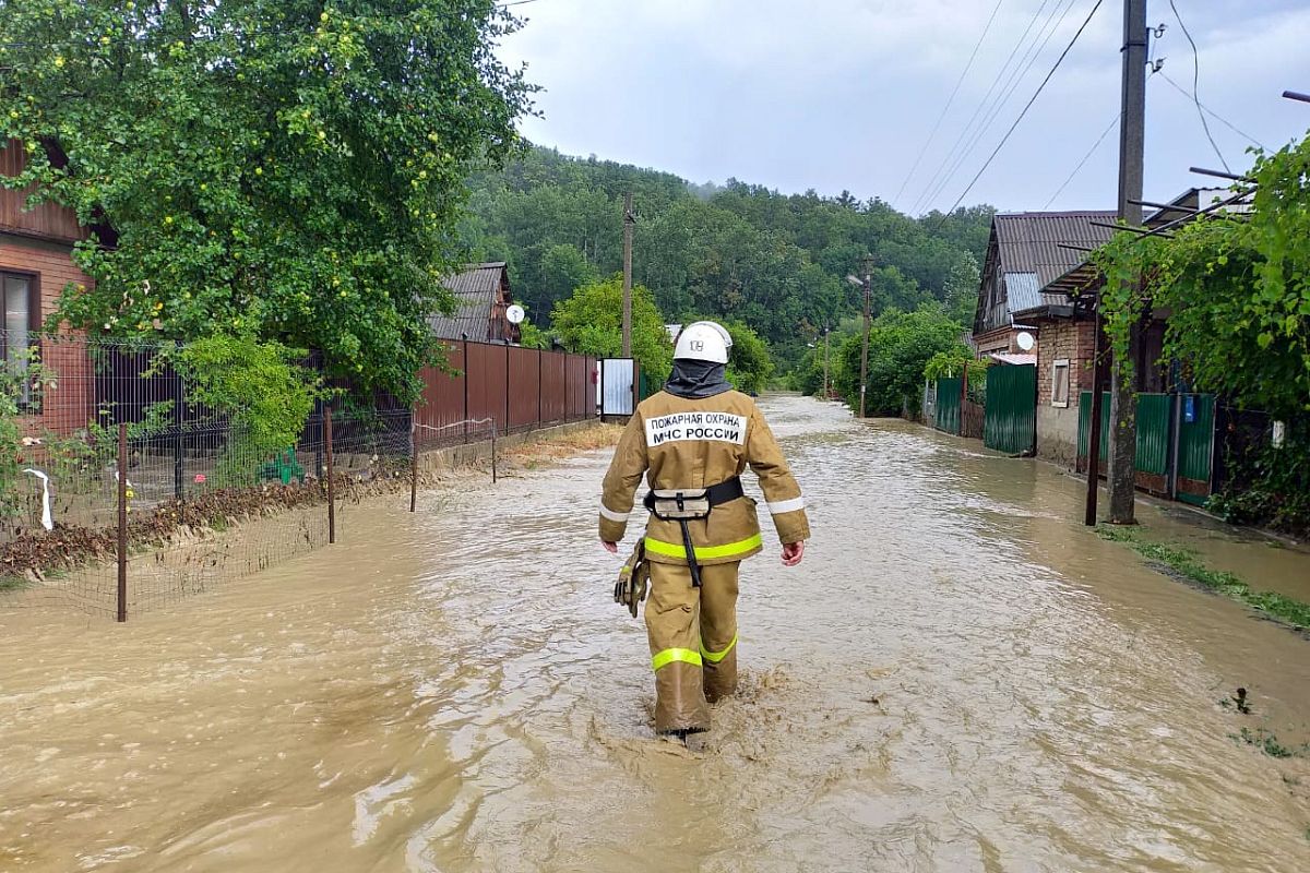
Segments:
[[[701,567],[650,563],[646,633],[655,669],[655,732],[707,730],[714,703],[736,691],[736,598],[740,561]]]

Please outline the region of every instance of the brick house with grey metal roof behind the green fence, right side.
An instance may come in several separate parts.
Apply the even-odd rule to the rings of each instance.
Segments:
[[[1078,391],[1091,387],[1095,322],[1057,283],[1072,287],[1070,271],[1110,240],[1114,230],[1099,225],[1114,220],[1112,211],[1000,213],[979,285],[977,356],[1036,364],[1036,453],[1068,466],[1077,461]],[[1035,338],[1034,349],[1019,347],[1022,332]]]

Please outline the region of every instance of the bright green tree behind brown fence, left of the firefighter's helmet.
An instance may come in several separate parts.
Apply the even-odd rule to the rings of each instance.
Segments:
[[[555,304],[550,323],[566,348],[596,357],[618,357],[622,335],[624,277],[612,276],[578,288]],[[673,366],[673,344],[664,318],[645,285],[633,285],[633,357],[656,381]]]

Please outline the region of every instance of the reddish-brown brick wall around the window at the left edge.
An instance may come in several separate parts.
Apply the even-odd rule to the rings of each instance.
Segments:
[[[55,310],[64,285],[71,281],[92,285],[90,279],[73,264],[71,253],[67,245],[0,233],[0,270],[37,275],[42,322]],[[72,343],[43,343],[42,359],[58,377],[58,385],[45,391],[41,415],[25,423],[29,435],[37,436],[43,431],[68,435],[84,428],[93,412],[94,385],[85,348]]]

